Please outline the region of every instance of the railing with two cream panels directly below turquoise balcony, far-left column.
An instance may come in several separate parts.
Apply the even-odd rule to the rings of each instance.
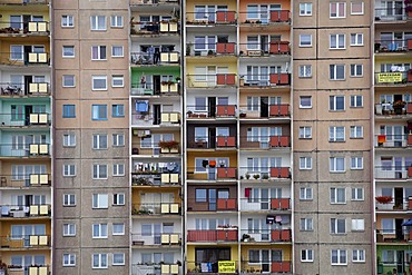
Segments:
[[[50,174],[0,175],[1,187],[42,187],[51,185]]]

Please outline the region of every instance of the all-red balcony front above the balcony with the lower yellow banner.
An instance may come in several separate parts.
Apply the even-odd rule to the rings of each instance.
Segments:
[[[187,242],[193,243],[217,243],[237,242],[237,228],[220,228],[217,230],[187,230]]]

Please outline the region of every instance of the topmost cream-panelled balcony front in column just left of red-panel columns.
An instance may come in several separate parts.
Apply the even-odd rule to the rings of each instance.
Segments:
[[[179,33],[180,24],[176,21],[130,22],[131,36],[170,36]]]

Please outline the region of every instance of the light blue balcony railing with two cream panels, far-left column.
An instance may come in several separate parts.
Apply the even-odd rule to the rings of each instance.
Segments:
[[[49,144],[0,145],[0,157],[41,157],[50,156]]]

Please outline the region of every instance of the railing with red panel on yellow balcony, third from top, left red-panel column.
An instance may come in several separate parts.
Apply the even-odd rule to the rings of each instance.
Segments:
[[[236,73],[187,75],[189,88],[235,87]]]

